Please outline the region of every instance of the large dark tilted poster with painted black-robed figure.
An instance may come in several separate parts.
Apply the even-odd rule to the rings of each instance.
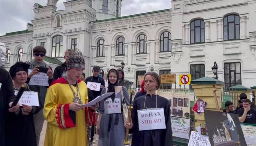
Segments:
[[[212,146],[247,146],[238,114],[205,110],[204,119]]]

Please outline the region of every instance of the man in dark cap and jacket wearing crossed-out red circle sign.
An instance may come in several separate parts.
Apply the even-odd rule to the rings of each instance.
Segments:
[[[92,93],[94,95],[94,98],[98,97],[101,95],[101,90],[103,87],[105,87],[105,81],[99,77],[100,75],[100,66],[94,66],[92,69],[92,76],[89,76],[85,79],[85,83],[88,85],[88,82],[95,82],[95,83],[100,83],[100,91],[92,90]],[[88,86],[87,86],[88,87]]]

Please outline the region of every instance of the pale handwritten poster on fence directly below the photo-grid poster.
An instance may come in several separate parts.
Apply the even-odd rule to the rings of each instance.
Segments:
[[[172,136],[189,139],[190,119],[171,116]]]

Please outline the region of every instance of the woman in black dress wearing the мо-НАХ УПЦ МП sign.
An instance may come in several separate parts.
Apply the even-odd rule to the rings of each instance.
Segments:
[[[161,83],[160,77],[155,72],[147,72],[144,81],[147,93],[134,100],[132,118],[130,119],[132,122],[127,120],[125,123],[125,127],[131,129],[133,133],[132,146],[172,146],[170,104],[166,98],[156,94],[156,90],[158,90]],[[160,126],[159,120],[151,119],[151,122],[149,122],[149,119],[145,120],[145,123],[142,120],[139,121],[138,116],[143,117],[142,114],[139,114],[142,110],[153,113],[150,113],[148,117],[150,115],[151,117],[159,116],[158,113],[163,113],[160,118],[164,121],[161,122]],[[149,124],[149,126],[143,126],[143,124]],[[142,129],[145,127],[146,129]]]

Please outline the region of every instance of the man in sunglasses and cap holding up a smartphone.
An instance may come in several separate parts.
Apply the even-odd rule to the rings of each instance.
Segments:
[[[28,85],[34,85],[36,87],[38,91],[39,106],[41,108],[44,107],[44,101],[46,98],[47,89],[53,81],[52,67],[48,66],[44,62],[45,56],[46,56],[46,49],[44,47],[36,46],[33,48],[34,59],[29,62],[30,67],[29,67],[28,78],[26,82],[28,83]],[[48,80],[48,82],[44,81],[44,82],[40,82],[39,85],[35,85],[36,83],[36,78],[34,78],[35,76],[37,77],[46,76],[46,78],[44,79]],[[44,123],[43,109],[41,109],[37,114],[34,114],[34,126],[36,130],[37,146],[39,145],[43,123]]]

